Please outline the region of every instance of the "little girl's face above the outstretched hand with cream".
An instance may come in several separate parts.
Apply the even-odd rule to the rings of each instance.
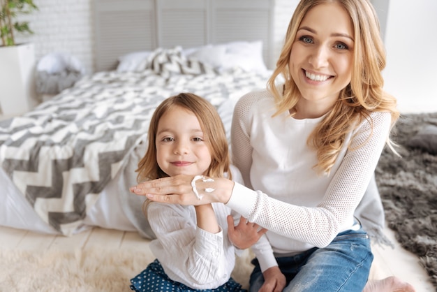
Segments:
[[[168,175],[205,175],[211,153],[193,112],[175,106],[158,122],[156,161]]]

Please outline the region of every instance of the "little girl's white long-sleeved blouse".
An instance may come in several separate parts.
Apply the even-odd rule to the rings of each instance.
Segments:
[[[242,183],[242,176],[231,166],[232,180]],[[196,225],[193,206],[150,203],[149,224],[156,235],[150,249],[170,279],[193,289],[214,289],[228,282],[241,250],[228,239],[226,217],[239,214],[222,203],[213,203],[219,233],[209,233]]]

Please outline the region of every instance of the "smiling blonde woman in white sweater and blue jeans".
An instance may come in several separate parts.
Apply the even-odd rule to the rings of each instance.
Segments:
[[[222,202],[268,228],[274,254],[255,251],[251,291],[414,291],[397,278],[366,286],[373,255],[353,217],[399,117],[383,92],[384,66],[368,0],[302,0],[267,89],[235,108],[232,158],[246,187],[178,175],[131,191]],[[214,191],[196,200],[191,182]]]

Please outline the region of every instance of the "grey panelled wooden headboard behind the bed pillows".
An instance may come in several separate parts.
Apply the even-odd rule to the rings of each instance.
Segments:
[[[263,43],[272,57],[274,0],[94,0],[95,71],[129,52],[230,41]]]

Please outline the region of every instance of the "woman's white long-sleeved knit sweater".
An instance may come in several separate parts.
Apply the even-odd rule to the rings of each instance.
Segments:
[[[355,227],[353,213],[391,120],[388,112],[373,112],[373,130],[367,120],[361,122],[346,137],[331,173],[320,175],[313,168],[316,150],[307,140],[323,117],[272,117],[275,111],[267,90],[246,94],[235,106],[231,132],[232,159],[246,187],[236,183],[227,205],[269,230],[274,255],[263,240],[253,246],[262,271],[277,265],[274,256],[326,247],[338,233]]]

